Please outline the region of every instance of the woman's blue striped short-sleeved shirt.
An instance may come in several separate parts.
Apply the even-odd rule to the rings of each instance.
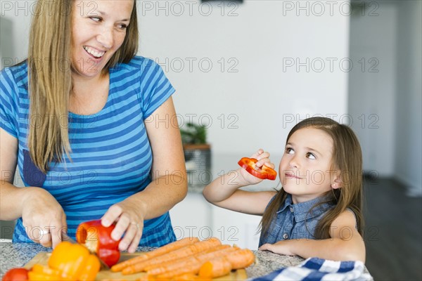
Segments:
[[[63,207],[68,235],[82,221],[99,219],[107,209],[151,183],[152,152],[144,121],[174,93],[161,67],[140,56],[110,69],[106,105],[93,115],[68,114],[70,159],[53,163],[44,175],[27,148],[29,95],[27,63],[0,72],[0,126],[18,138],[18,171],[25,186],[46,189]],[[37,117],[32,117],[37,118]],[[65,116],[66,118],[66,116]],[[37,200],[37,198],[34,198]],[[174,241],[170,215],[144,222],[141,246]],[[18,219],[13,242],[31,242]]]

